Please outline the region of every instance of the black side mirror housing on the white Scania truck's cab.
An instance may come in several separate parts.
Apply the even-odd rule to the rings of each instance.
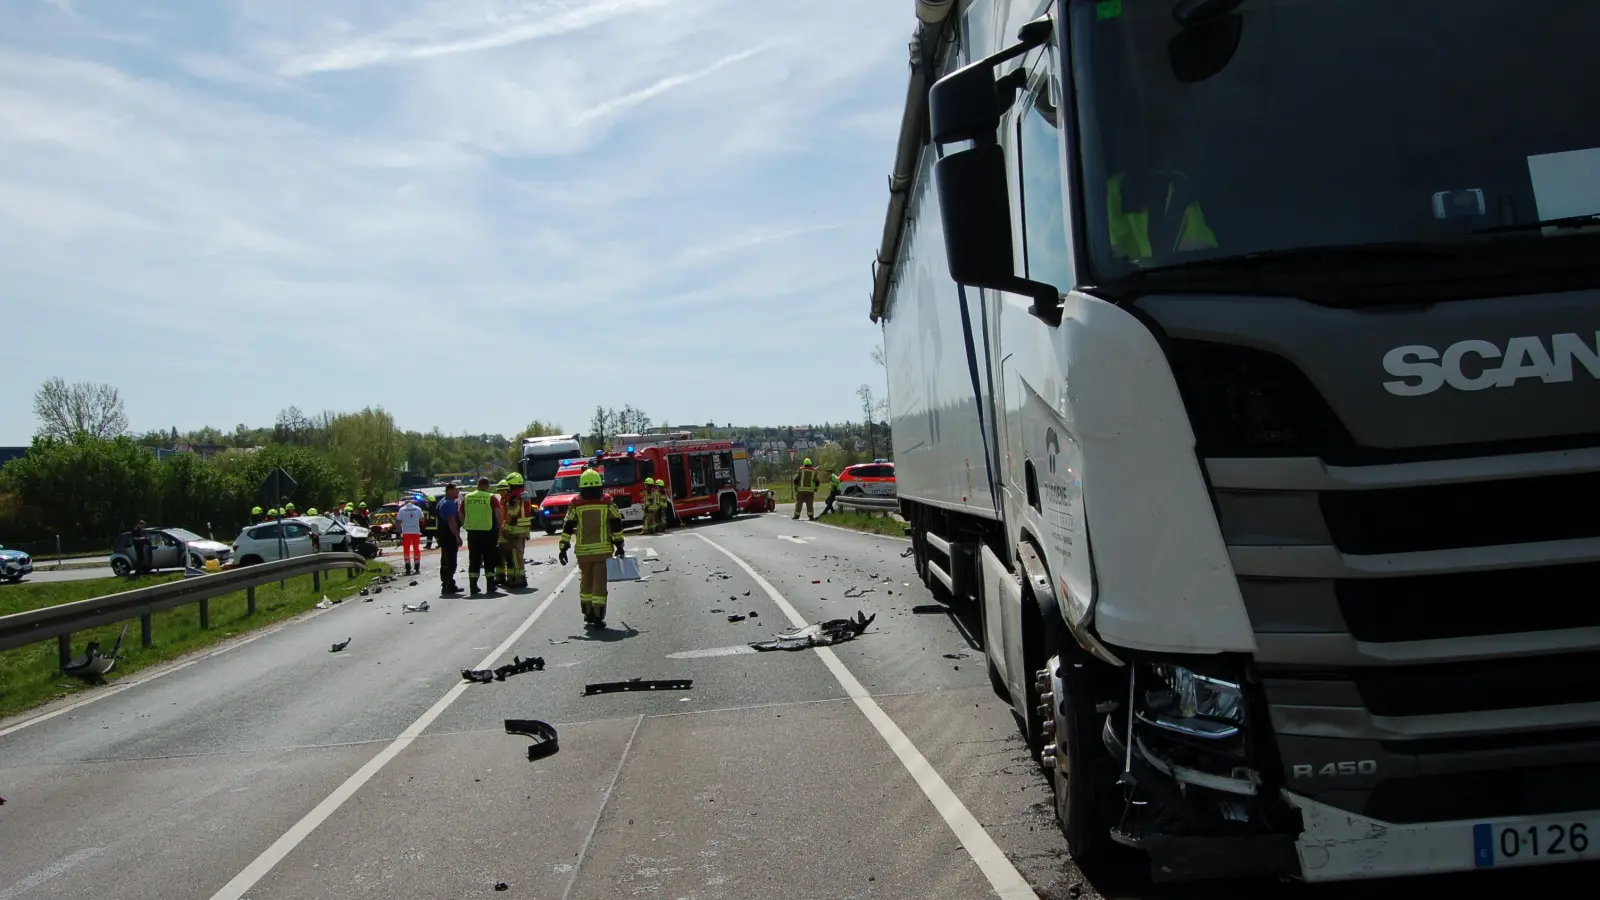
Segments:
[[[934,143],[974,144],[933,163],[933,187],[939,197],[939,224],[950,280],[1030,296],[1030,312],[1059,325],[1061,295],[1056,287],[1016,274],[1005,152],[997,143],[1005,104],[1000,102],[994,74],[1000,62],[1050,40],[1050,19],[1022,26],[1018,37],[1021,43],[957,69],[933,85],[928,94],[928,123]]]

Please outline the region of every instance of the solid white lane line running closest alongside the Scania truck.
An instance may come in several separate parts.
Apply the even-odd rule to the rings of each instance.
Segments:
[[[794,623],[795,628],[808,625],[800,615],[800,610],[790,605],[789,601],[778,593],[778,588],[773,588],[771,583],[766,581],[766,578],[762,578],[760,572],[750,569],[749,562],[744,562],[706,535],[694,536],[709,543],[712,548],[731,559],[734,565],[742,569],[746,575],[755,580],[755,583],[766,591],[766,596],[778,604],[778,609],[789,617],[789,621]],[[906,737],[906,732],[894,724],[894,719],[890,719],[890,714],[885,713],[875,700],[872,700],[867,689],[856,681],[856,676],[851,674],[848,668],[845,668],[845,663],[840,661],[832,647],[818,647],[816,655],[822,660],[822,665],[834,673],[834,677],[838,679],[838,685],[845,689],[845,693],[856,701],[856,708],[861,709],[861,714],[872,722],[872,727],[877,729],[878,735],[882,735],[890,745],[890,749],[893,749],[894,756],[899,757],[901,765],[906,767],[906,772],[909,772],[912,780],[917,781],[917,786],[922,788],[923,796],[928,798],[928,802],[933,804],[933,809],[939,812],[944,823],[962,842],[962,847],[966,849],[966,855],[978,863],[978,868],[984,873],[984,878],[989,879],[989,886],[994,887],[995,894],[1002,900],[1038,900],[1034,889],[1027,886],[1027,879],[1022,878],[1022,873],[1016,871],[1016,866],[1011,865],[1011,860],[1006,858],[1000,846],[994,842],[994,838],[990,838],[989,833],[984,831],[984,826],[978,823],[971,812],[968,812],[966,804],[963,804],[962,799],[955,796],[955,791],[944,783],[944,778],[939,777],[933,765],[928,764],[928,759],[920,749],[917,749],[917,745]]]

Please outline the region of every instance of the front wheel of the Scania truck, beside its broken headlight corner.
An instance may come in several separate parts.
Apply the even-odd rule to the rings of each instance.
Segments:
[[[1051,657],[1040,674],[1040,708],[1050,743],[1040,754],[1056,794],[1056,822],[1067,838],[1067,852],[1083,865],[1110,847],[1110,820],[1104,798],[1110,796],[1110,754],[1099,740],[1096,714],[1088,700],[1082,669]]]

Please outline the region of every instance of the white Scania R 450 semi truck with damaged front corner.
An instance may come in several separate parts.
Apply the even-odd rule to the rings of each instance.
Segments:
[[[1600,857],[1600,3],[917,13],[899,496],[1072,854]]]

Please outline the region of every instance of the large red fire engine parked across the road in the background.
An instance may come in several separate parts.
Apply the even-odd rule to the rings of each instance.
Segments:
[[[622,511],[622,520],[645,520],[645,479],[667,482],[672,500],[669,520],[696,516],[731,519],[758,506],[750,492],[750,452],[742,440],[696,440],[686,431],[672,434],[622,434],[597,456],[606,496]]]

